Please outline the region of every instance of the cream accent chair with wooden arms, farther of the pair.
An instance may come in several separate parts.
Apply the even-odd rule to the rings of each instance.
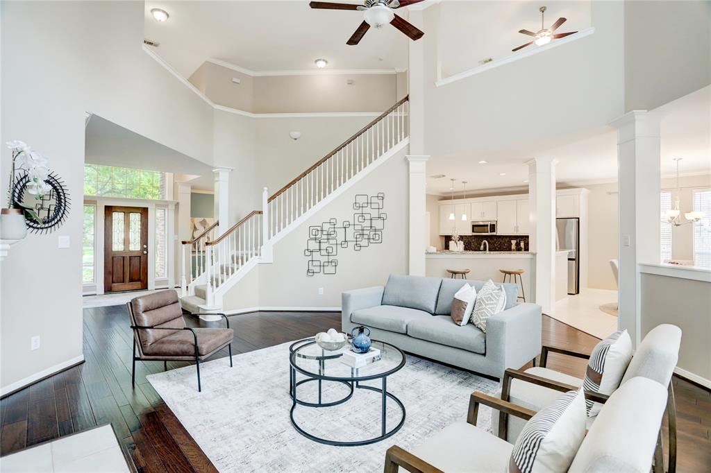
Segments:
[[[669,324],[654,327],[639,344],[620,383],[620,386],[624,386],[630,379],[642,376],[656,381],[660,386],[668,389],[669,473],[674,473],[676,469],[676,407],[671,377],[678,361],[680,344],[681,330],[679,327]],[[561,392],[582,386],[582,379],[546,367],[550,352],[584,359],[588,359],[590,356],[587,353],[544,345],[540,354],[540,366],[525,371],[507,369],[501,381],[501,390],[496,393],[496,396],[504,401],[539,411],[551,403]],[[607,397],[604,394],[586,392],[586,398],[591,401],[604,402]],[[596,419],[597,416],[588,418],[588,427],[597,422]],[[523,420],[513,418],[506,413],[492,412],[491,414],[493,431],[509,442],[516,441],[523,425]],[[661,442],[658,447],[661,452]],[[661,465],[655,465],[655,467],[661,467]]]

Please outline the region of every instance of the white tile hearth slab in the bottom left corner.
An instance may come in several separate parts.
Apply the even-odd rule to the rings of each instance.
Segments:
[[[129,472],[111,425],[61,437],[0,459],[9,472]]]

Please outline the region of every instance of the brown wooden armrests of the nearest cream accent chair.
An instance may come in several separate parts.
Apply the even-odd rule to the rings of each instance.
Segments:
[[[528,420],[535,415],[535,411],[531,411],[530,409],[517,406],[516,404],[503,401],[493,396],[488,396],[488,394],[480,393],[479,391],[474,391],[474,393],[471,393],[471,396],[469,396],[469,411],[466,414],[467,423],[476,426],[476,417],[479,414],[480,404],[501,412],[506,412],[509,415],[514,415],[523,420]],[[399,467],[412,473],[443,473],[441,469],[425,462],[416,455],[412,455],[412,453],[407,452],[407,450],[393,445],[385,452],[385,467],[383,472],[397,473]]]

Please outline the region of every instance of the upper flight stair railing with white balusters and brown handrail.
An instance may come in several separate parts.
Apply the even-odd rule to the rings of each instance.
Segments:
[[[409,136],[405,96],[267,199],[267,239]]]

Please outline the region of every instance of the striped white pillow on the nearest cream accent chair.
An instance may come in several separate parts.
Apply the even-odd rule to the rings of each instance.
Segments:
[[[585,437],[585,396],[568,391],[523,426],[508,473],[567,472]]]

